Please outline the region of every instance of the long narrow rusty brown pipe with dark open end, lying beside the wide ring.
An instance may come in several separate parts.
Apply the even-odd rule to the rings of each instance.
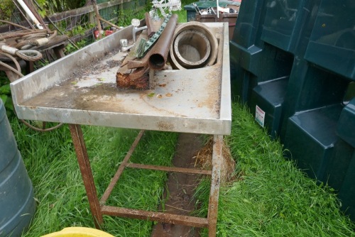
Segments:
[[[166,60],[168,58],[169,48],[173,41],[176,23],[178,23],[178,15],[173,14],[165,26],[163,33],[161,33],[158,41],[151,49],[148,60],[148,65],[151,67],[151,69],[162,70],[165,66]]]

